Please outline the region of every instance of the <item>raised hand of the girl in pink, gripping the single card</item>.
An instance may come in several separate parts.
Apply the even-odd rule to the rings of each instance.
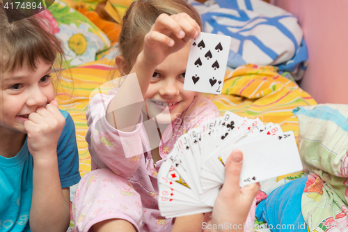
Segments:
[[[169,54],[182,49],[191,38],[196,38],[200,27],[186,13],[161,14],[145,35],[143,56],[150,66],[159,65]]]

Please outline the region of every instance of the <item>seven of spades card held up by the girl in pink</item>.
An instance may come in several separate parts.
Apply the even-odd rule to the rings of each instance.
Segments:
[[[230,43],[230,36],[204,32],[191,40],[185,90],[221,94]]]

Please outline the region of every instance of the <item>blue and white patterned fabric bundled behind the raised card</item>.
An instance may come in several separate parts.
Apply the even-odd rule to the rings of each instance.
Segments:
[[[232,37],[231,68],[254,63],[278,65],[289,72],[306,69],[306,42],[291,13],[261,0],[215,0],[209,6],[195,1],[193,6],[200,12],[205,31]]]

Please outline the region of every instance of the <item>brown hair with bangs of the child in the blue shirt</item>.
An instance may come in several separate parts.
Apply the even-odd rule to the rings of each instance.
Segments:
[[[0,72],[13,72],[29,66],[37,68],[38,59],[52,64],[55,90],[64,55],[60,42],[49,33],[48,24],[38,17],[27,17],[21,10],[3,8],[0,1]]]

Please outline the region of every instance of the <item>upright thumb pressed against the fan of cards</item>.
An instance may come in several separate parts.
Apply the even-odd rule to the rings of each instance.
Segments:
[[[239,192],[239,179],[242,170],[243,153],[240,150],[233,150],[225,164],[225,182],[221,191],[230,194]]]

